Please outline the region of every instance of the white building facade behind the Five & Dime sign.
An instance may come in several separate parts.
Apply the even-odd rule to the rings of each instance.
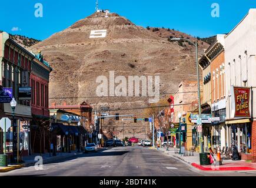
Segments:
[[[256,9],[250,9],[225,36],[225,83],[226,125],[231,129],[231,145],[237,146],[242,159],[256,162]],[[236,95],[238,91],[245,96],[241,101]],[[238,103],[245,106],[240,109]],[[246,105],[248,109],[244,108]]]

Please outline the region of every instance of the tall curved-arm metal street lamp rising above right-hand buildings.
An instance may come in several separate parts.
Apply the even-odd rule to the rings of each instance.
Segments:
[[[197,41],[192,42],[188,39],[185,39],[185,38],[172,38],[171,41],[181,41],[181,40],[184,40],[184,41],[187,41],[189,43],[191,43],[192,45],[195,46],[195,60],[197,62],[197,95],[198,95],[198,118],[200,120],[200,125],[201,125],[201,94],[200,94],[200,79],[199,79],[199,68],[198,68],[198,45],[197,45]],[[199,142],[200,142],[200,153],[202,153],[202,135],[201,135],[201,132],[199,132]]]

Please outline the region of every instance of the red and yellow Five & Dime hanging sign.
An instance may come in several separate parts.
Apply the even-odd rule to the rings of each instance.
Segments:
[[[250,88],[231,86],[232,117],[250,117]]]

